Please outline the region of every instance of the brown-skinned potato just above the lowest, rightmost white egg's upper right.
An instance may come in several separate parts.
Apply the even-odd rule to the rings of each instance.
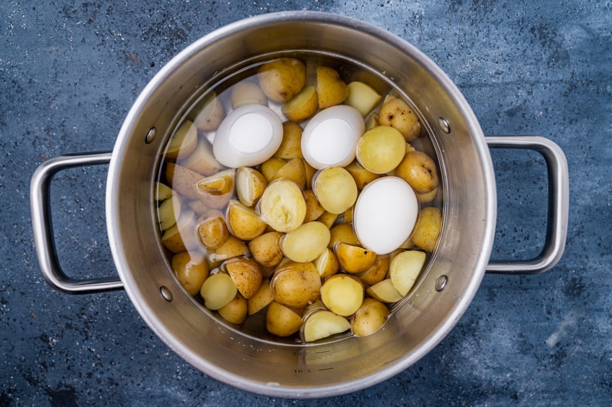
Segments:
[[[424,152],[406,153],[395,169],[395,175],[409,183],[417,194],[428,193],[438,186],[436,163]]]

